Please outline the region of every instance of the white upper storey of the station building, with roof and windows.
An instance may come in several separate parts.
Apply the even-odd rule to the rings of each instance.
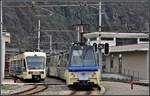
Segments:
[[[148,35],[144,33],[91,32],[84,34],[84,37],[92,45],[93,43],[99,43],[99,35],[101,36],[101,43],[109,43],[109,46],[148,42]]]

